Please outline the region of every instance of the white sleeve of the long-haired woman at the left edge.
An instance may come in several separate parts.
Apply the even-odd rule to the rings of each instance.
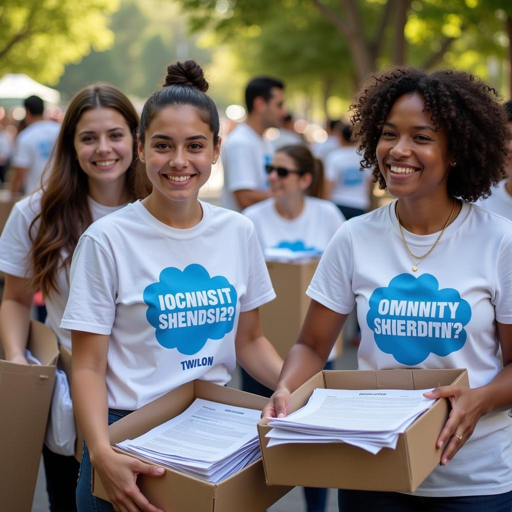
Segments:
[[[24,202],[27,199],[22,200]],[[16,203],[0,237],[0,270],[17,278],[32,277],[30,252],[32,242],[29,230],[32,219]]]

